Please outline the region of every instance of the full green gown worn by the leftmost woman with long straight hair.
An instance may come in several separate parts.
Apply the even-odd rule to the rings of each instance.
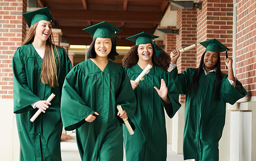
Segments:
[[[72,64],[65,49],[57,46],[57,51],[60,55],[60,86],[54,88],[41,82],[42,58],[32,43],[19,47],[13,56],[13,100],[21,143],[21,161],[61,161],[60,136],[63,125],[60,98],[65,76]],[[55,60],[59,65],[57,55]],[[30,118],[38,110],[33,109],[31,104],[46,100],[52,92],[56,95],[51,101],[52,105],[31,123]]]

